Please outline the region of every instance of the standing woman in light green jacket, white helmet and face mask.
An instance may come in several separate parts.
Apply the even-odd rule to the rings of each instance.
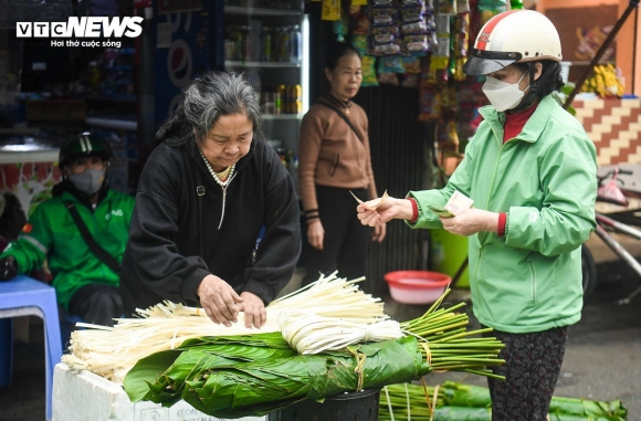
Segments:
[[[481,30],[464,71],[486,75],[491,106],[465,158],[440,190],[410,191],[361,223],[404,219],[412,228],[469,236],[473,311],[504,344],[490,380],[493,420],[546,419],[567,343],[582,307],[580,245],[596,227],[597,165],[581,125],[550,97],[563,86],[560,40],[543,14],[509,11]],[[459,191],[473,207],[442,218]]]

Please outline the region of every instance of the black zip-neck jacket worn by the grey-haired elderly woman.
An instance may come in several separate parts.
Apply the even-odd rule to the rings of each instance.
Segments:
[[[227,188],[224,214],[222,188],[195,150],[193,138],[162,143],[145,165],[123,257],[126,315],[165,299],[198,305],[208,274],[265,305],[292,277],[301,252],[298,200],[275,150],[254,136]]]

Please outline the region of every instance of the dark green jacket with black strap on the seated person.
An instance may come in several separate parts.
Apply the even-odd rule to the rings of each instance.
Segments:
[[[119,275],[90,251],[65,201],[75,203],[94,240],[118,262],[127,244],[135,201],[108,189],[92,210],[86,201],[65,190],[38,206],[18,241],[9,243],[0,255],[14,256],[20,273],[39,270],[46,259],[57,303],[69,309],[72,295],[81,286],[96,283],[118,286]]]

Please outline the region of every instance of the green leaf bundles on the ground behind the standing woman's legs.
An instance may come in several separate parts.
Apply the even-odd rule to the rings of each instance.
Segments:
[[[549,407],[550,421],[626,421],[627,419],[628,410],[620,400],[605,402],[554,397]],[[378,420],[491,421],[490,390],[453,381],[445,381],[438,388],[409,383],[390,385],[380,392]]]

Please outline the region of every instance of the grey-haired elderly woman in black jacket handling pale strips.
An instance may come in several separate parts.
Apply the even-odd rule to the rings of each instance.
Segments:
[[[120,291],[125,311],[200,304],[231,326],[261,327],[301,252],[292,178],[262,141],[241,76],[210,72],[185,90],[140,177]],[[264,235],[256,242],[261,229]]]

